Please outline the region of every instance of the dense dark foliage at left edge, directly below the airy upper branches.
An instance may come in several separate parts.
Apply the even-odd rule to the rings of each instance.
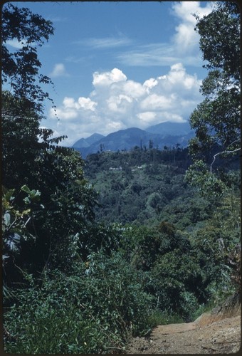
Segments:
[[[41,115],[28,108],[26,99],[16,98],[9,91],[2,93],[2,168],[6,187],[36,187],[44,177],[43,159],[48,162],[51,152],[61,150],[56,144],[64,137],[51,138],[53,131],[41,129],[40,120]]]

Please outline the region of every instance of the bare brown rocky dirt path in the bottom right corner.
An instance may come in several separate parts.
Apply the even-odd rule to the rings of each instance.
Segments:
[[[237,308],[230,315],[204,313],[193,323],[159,325],[149,337],[133,338],[127,353],[227,354],[240,348],[241,312]]]

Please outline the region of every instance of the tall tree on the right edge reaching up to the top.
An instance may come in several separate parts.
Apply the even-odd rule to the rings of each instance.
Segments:
[[[189,142],[194,164],[186,177],[223,192],[228,177],[215,175],[216,163],[240,150],[240,11],[236,3],[219,1],[196,20],[209,73],[201,85],[204,101],[190,117],[196,137]]]

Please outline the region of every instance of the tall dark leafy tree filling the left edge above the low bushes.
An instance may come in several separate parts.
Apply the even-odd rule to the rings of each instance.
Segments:
[[[7,196],[9,192],[16,193],[14,203],[11,201],[14,210],[23,211],[26,205],[23,187],[24,192],[38,189],[40,206],[44,207],[35,207],[24,225],[27,231],[21,229],[24,234],[35,236],[34,244],[33,240],[24,241],[19,231],[15,262],[33,273],[50,263],[70,266],[90,236],[95,193],[83,177],[83,159],[78,152],[58,146],[65,137],[53,138],[52,130],[40,127],[45,100],[51,99],[43,84],[52,82],[39,73],[37,49],[53,34],[53,26],[51,21],[13,4],[4,5],[2,25],[2,75],[6,88],[2,93],[2,182]],[[10,53],[8,41],[17,41],[20,48]],[[7,227],[6,246],[13,245],[14,232]],[[15,278],[16,271],[8,270],[7,261],[6,274]]]

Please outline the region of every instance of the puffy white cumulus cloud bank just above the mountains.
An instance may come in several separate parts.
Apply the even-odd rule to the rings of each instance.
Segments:
[[[118,68],[93,73],[88,98],[65,97],[60,107],[50,111],[58,118],[58,132],[68,132],[68,145],[94,132],[107,135],[127,127],[145,129],[159,122],[182,122],[201,102],[201,80],[186,73],[181,63],[166,75],[148,78],[144,83],[128,79]]]

